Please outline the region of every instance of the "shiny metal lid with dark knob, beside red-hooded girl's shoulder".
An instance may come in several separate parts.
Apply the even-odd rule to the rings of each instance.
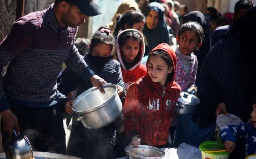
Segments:
[[[193,94],[187,92],[181,92],[178,99],[178,103],[181,105],[193,106],[200,103],[200,99]]]

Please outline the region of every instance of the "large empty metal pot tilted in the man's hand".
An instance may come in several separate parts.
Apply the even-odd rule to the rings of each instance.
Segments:
[[[105,94],[92,87],[80,94],[72,110],[80,114],[78,121],[89,129],[98,129],[112,123],[122,111],[122,102],[114,84],[103,84]]]

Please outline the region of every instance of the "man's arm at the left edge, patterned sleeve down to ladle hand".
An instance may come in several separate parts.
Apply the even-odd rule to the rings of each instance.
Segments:
[[[0,43],[0,68],[6,66],[8,62],[22,54],[36,41],[37,26],[33,20],[25,20],[24,17],[15,22],[11,32]],[[0,76],[0,111],[2,114],[3,130],[9,136],[13,129],[20,133],[18,120],[10,110],[9,101],[5,95],[3,77]]]

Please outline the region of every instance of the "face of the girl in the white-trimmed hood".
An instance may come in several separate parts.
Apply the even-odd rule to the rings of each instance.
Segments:
[[[134,39],[126,39],[124,45],[120,48],[123,54],[123,58],[127,62],[133,62],[140,50],[140,42]]]

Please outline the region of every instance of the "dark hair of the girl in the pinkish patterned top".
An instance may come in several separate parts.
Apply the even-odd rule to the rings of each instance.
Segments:
[[[196,33],[197,37],[198,37],[198,43],[202,43],[204,40],[204,30],[202,28],[202,26],[198,23],[198,22],[194,22],[194,21],[188,21],[185,24],[183,24],[179,31],[178,31],[178,37],[180,37],[180,35],[187,31],[193,31]]]

